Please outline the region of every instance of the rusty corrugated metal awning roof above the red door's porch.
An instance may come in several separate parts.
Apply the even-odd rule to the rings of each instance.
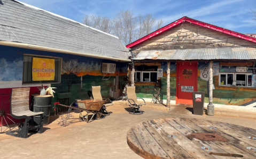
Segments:
[[[193,48],[165,51],[141,51],[133,60],[253,60],[256,48]]]

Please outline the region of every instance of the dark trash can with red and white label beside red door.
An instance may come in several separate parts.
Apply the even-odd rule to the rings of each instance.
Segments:
[[[193,91],[192,99],[193,99],[193,114],[203,115],[205,93],[202,91]]]

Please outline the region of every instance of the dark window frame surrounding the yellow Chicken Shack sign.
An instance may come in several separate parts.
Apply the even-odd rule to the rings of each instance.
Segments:
[[[26,61],[25,58],[26,56],[30,56],[32,57],[32,61],[28,60]],[[33,62],[33,57],[38,57],[38,58],[49,58],[49,59],[58,59],[60,60],[59,63],[58,63],[58,72],[56,71],[56,74],[55,74],[55,79],[57,78],[57,80],[53,80],[53,81],[33,81],[32,80],[32,68],[30,69],[29,66],[28,66],[28,62],[30,61],[31,64]],[[55,64],[57,63],[57,61],[55,61]],[[25,79],[25,66],[27,66],[27,78],[28,78],[28,74],[31,74],[31,81],[27,80],[27,81],[24,81]],[[61,82],[61,71],[62,71],[62,66],[63,66],[63,58],[61,57],[54,57],[54,56],[43,56],[43,55],[35,55],[35,54],[24,54],[23,55],[23,67],[22,67],[22,85],[37,85],[37,84],[51,84],[51,83],[60,83]]]

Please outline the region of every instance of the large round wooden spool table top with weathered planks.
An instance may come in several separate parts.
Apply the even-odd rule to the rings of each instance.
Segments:
[[[203,138],[197,139],[197,135]],[[127,143],[143,158],[256,158],[255,129],[217,121],[150,120],[132,127]]]

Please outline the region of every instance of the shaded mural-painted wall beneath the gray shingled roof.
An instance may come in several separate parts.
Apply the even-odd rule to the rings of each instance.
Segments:
[[[56,87],[56,89],[54,89],[56,93],[55,97],[52,99],[52,106],[53,103],[57,102],[59,99],[69,98],[69,103],[67,104],[71,104],[75,99],[89,99],[88,91],[91,90],[91,86],[101,86],[102,96],[111,97],[113,96],[113,91],[118,93],[122,92],[121,90],[116,90],[121,89],[123,83],[128,81],[127,63],[117,63],[115,61],[98,58],[36,51],[25,48],[0,46],[0,93],[10,94],[11,89],[14,87],[26,87],[24,85],[22,86],[24,54],[63,58],[61,82],[51,85],[51,87]],[[104,77],[105,79],[110,77],[108,80],[102,80],[102,63],[116,64],[115,73],[111,74],[111,77],[110,74],[106,74]],[[118,83],[117,80],[119,81]],[[36,87],[33,87],[33,85],[29,85],[28,87],[30,87],[30,94],[36,93]]]

